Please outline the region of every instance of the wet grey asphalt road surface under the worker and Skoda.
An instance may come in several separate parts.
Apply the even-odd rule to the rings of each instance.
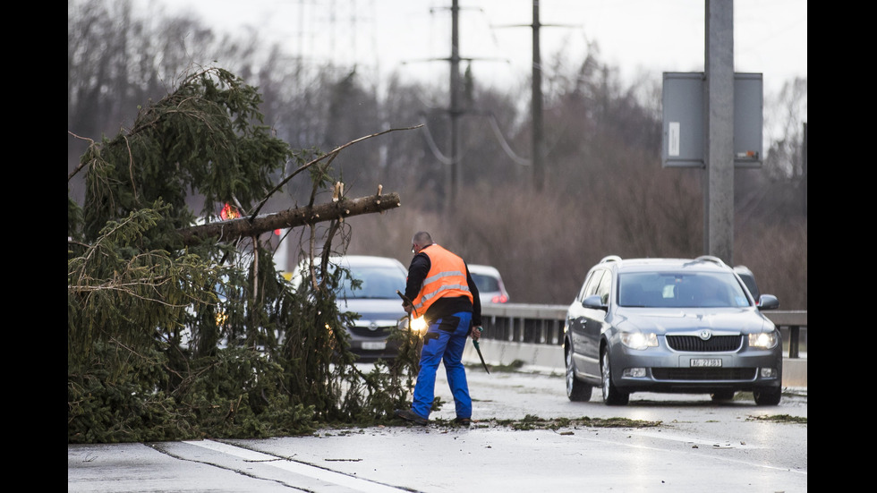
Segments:
[[[309,437],[67,446],[73,492],[807,490],[806,389],[776,407],[708,395],[634,394],[624,407],[566,399],[560,375],[469,370],[475,422],[445,404],[426,427],[324,429]],[[503,420],[628,418],[651,427],[512,429]],[[802,422],[803,420],[803,422]]]

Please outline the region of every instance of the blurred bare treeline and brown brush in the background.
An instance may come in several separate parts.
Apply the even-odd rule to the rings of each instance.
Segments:
[[[452,196],[447,80],[377,80],[362,68],[305,62],[257,32],[217,32],[198,20],[138,11],[129,1],[67,5],[68,172],[87,149],[85,139],[115,135],[184,74],[217,65],[259,88],[265,122],[293,149],[326,152],[422,125],[364,140],[333,163],[350,197],[381,185],[402,200],[386,214],[351,218],[348,253],[407,265],[413,233],[428,230],[470,263],[498,268],[512,302],[550,304],[572,302],[588,268],[610,254],[707,253],[705,171],[661,167],[661,74],[625,83],[597,47],[584,59],[543,57],[541,191],[526,164],[529,74],[502,90],[462,74],[461,187]],[[762,293],[776,294],[782,309],[806,310],[807,81],[788,81],[764,100],[770,131],[762,167],[735,172],[733,263],[751,268]],[[83,186],[73,180],[68,192],[81,198]],[[302,205],[310,192],[291,185],[271,210]]]

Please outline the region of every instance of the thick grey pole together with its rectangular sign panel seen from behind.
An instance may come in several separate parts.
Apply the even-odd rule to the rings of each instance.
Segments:
[[[705,72],[664,73],[663,166],[703,167],[703,251],[734,264],[734,171],[761,166],[762,74],[734,72],[734,2],[704,0]]]

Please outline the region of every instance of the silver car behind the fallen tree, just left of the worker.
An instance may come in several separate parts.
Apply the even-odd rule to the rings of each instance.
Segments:
[[[369,255],[333,257],[329,264],[350,272],[336,290],[338,309],[359,315],[359,319],[347,327],[350,351],[358,355],[360,361],[396,358],[398,347],[388,336],[396,327],[407,327],[407,313],[402,309],[396,290],[404,292],[408,269],[399,260]],[[294,285],[301,282],[304,268],[305,264],[299,264],[292,274]],[[356,289],[351,278],[359,281]]]

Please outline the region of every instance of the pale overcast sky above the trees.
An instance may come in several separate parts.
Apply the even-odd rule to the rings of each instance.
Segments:
[[[283,44],[292,54],[381,74],[442,81],[450,55],[452,0],[137,0],[190,12],[217,30]],[[481,83],[517,84],[532,72],[532,0],[459,0],[459,54],[475,58]],[[702,72],[705,0],[541,0],[541,57],[570,63],[600,47],[626,81],[651,73]],[[765,92],[807,76],[806,0],[734,0],[736,72],[763,74]]]

